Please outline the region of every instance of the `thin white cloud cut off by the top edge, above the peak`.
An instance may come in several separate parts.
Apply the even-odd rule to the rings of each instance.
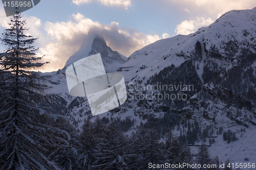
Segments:
[[[94,0],[96,1],[96,0]],[[82,5],[82,4],[88,4],[91,3],[92,0],[73,0],[72,3],[76,5]],[[121,7],[125,10],[128,9],[128,7],[131,7],[131,0],[97,0],[98,3],[104,6],[108,7]]]

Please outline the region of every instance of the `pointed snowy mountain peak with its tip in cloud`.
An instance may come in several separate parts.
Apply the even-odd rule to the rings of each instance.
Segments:
[[[72,55],[66,62],[65,67],[84,57],[100,53],[106,72],[115,72],[118,67],[124,64],[127,58],[106,45],[103,38],[95,35],[88,35],[81,45],[79,51]]]

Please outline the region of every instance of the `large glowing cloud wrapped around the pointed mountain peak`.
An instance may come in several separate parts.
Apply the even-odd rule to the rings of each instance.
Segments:
[[[73,14],[67,22],[46,22],[45,31],[47,42],[39,48],[39,55],[46,54],[44,61],[50,61],[45,71],[63,68],[68,58],[79,50],[89,34],[104,38],[112,50],[125,56],[130,56],[145,45],[161,39],[157,34],[146,35],[136,29],[120,27],[118,22],[103,25],[80,13]],[[162,37],[167,38],[169,35],[164,33]]]

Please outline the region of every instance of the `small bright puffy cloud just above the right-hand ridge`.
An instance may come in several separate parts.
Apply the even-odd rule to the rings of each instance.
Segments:
[[[175,32],[177,34],[187,35],[190,33],[194,33],[201,27],[210,25],[212,22],[214,22],[214,20],[212,20],[210,17],[196,17],[181,22],[179,25],[176,26]]]

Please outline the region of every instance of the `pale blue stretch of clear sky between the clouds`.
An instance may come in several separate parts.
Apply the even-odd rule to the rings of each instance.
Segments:
[[[41,0],[38,7],[24,12],[24,15],[35,16],[40,18],[42,22],[66,22],[72,14],[79,12],[85,17],[104,25],[116,21],[120,27],[135,28],[144,34],[152,34],[153,32],[176,35],[174,30],[177,23],[179,23],[179,20],[185,20],[190,14],[180,12],[178,5],[172,6],[170,3],[161,4],[157,2],[152,0],[134,1],[131,3],[131,7],[125,10],[118,6],[104,6],[97,1],[76,5],[71,0]],[[38,8],[44,10],[38,10]]]

